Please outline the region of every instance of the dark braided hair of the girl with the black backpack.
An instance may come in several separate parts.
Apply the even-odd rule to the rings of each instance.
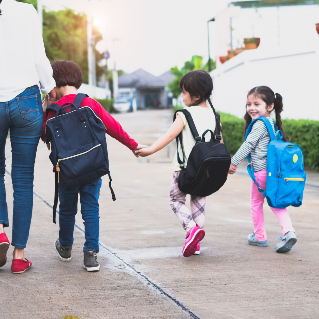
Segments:
[[[198,105],[203,101],[208,100],[211,108],[216,117],[217,127],[220,132],[223,132],[220,122],[217,118],[216,111],[211,103],[211,92],[213,90],[213,80],[211,76],[204,70],[194,70],[185,74],[180,82],[181,90],[185,90],[189,93],[192,105]],[[194,97],[199,95],[198,100],[193,100]]]

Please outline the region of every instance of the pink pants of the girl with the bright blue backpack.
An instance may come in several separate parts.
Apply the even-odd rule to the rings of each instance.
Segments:
[[[266,170],[255,172],[255,178],[257,183],[262,189],[266,189],[266,178],[267,173]],[[263,216],[263,202],[265,197],[263,193],[258,190],[257,185],[251,181],[250,188],[250,210],[251,216],[253,218],[254,228],[255,228],[255,237],[258,241],[264,241],[267,239],[266,231],[265,231],[265,219]],[[289,231],[295,231],[293,229],[293,225],[291,223],[291,219],[286,208],[273,208],[271,210],[274,212],[276,217],[279,220],[279,224],[282,229],[282,234],[286,234]]]

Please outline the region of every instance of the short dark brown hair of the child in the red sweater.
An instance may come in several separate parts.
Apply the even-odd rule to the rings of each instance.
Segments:
[[[57,87],[75,86],[76,89],[82,84],[82,71],[72,61],[56,60],[51,63],[53,69],[53,78]]]

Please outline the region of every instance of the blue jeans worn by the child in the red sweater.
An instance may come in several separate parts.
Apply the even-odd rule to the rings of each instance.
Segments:
[[[59,183],[59,241],[61,246],[73,244],[75,215],[78,212],[78,194],[80,193],[81,214],[84,220],[85,243],[83,250],[99,252],[99,197],[102,179],[88,184],[65,188]]]

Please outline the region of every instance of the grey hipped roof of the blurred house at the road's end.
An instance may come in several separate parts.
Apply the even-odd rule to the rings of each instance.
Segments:
[[[156,77],[151,73],[139,69],[133,73],[120,76],[119,87],[164,87],[170,82],[161,78],[165,74],[166,73]]]

